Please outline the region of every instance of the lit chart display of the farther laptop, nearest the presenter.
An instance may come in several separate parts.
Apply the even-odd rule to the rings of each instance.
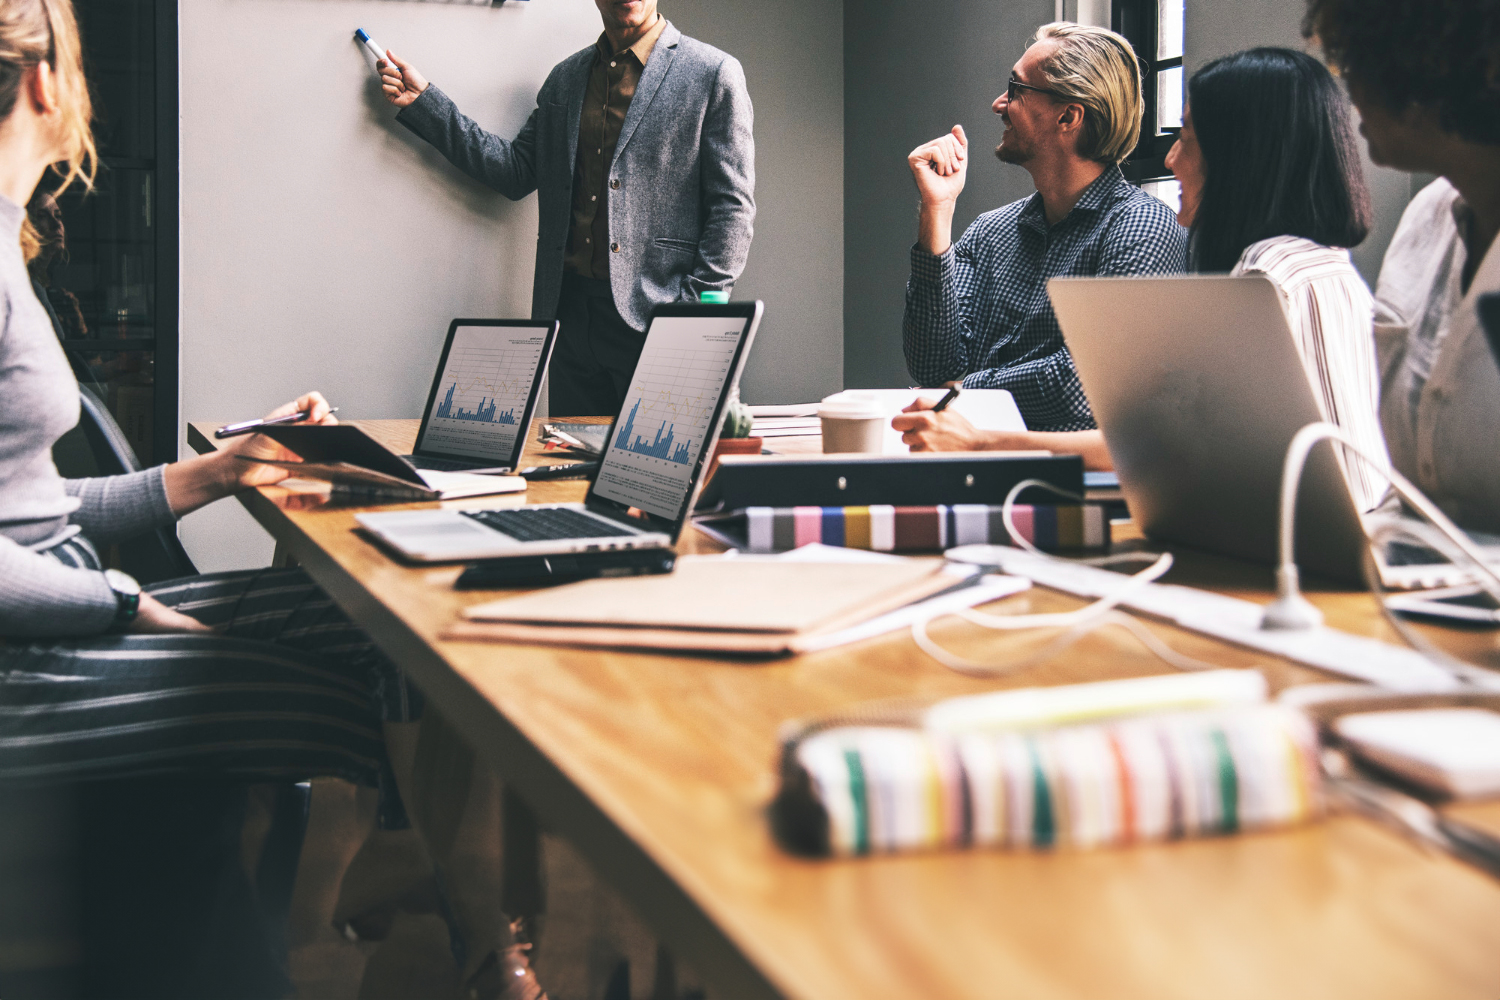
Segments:
[[[459,327],[420,447],[507,457],[544,345],[546,333],[534,327]]]

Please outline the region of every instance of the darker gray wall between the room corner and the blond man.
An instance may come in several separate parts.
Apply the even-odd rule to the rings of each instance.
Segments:
[[[990,111],[1011,64],[1053,0],[884,0],[844,22],[844,384],[909,385],[902,304],[916,240],[906,154],[963,124],[974,157],[954,234],[1032,190],[1020,166],[988,150]]]

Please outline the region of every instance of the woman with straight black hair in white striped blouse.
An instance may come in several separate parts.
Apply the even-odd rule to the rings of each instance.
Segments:
[[[1192,270],[1270,279],[1323,418],[1383,457],[1374,303],[1344,249],[1370,231],[1370,195],[1328,69],[1286,48],[1214,60],[1188,81],[1167,166]],[[1380,502],[1380,475],[1358,462],[1344,474],[1359,510]]]

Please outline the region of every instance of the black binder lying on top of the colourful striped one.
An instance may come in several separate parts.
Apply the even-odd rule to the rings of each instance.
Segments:
[[[726,454],[704,487],[698,510],[1000,504],[1022,480],[1041,480],[1082,498],[1083,459],[1002,451]],[[1029,487],[1017,502],[1058,504],[1062,498]]]

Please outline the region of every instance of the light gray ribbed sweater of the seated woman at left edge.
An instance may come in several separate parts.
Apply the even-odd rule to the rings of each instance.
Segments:
[[[165,466],[64,480],[52,445],[78,423],[78,382],[21,258],[26,213],[0,195],[0,637],[87,636],[114,621],[102,573],[38,550],[81,529],[108,544],[170,525]]]

